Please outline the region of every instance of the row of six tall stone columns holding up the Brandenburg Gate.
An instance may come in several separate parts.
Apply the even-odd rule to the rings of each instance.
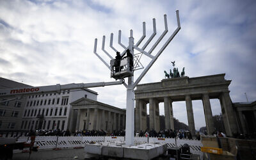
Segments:
[[[193,105],[191,95],[184,95],[186,101],[186,111],[188,117],[188,127],[192,136],[195,136],[195,120],[193,113]],[[202,103],[204,108],[205,124],[207,132],[212,134],[215,131],[214,122],[212,119],[211,102],[208,93],[202,94]],[[223,114],[223,120],[225,129],[228,135],[232,135],[232,132],[236,131],[236,118],[233,116],[234,110],[232,109],[232,102],[228,93],[221,93],[220,97],[221,112]],[[179,100],[180,101],[180,100]],[[156,131],[160,130],[159,124],[159,102],[164,102],[164,126],[165,129],[174,130],[173,119],[173,105],[172,97],[163,97],[163,100],[157,98],[136,99],[136,116],[135,116],[135,130],[145,131],[147,129],[147,104],[149,103],[149,129]]]

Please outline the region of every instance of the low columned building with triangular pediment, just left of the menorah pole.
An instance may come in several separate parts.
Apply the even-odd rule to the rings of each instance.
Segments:
[[[81,98],[71,103],[70,131],[99,130],[113,132],[125,129],[125,109],[97,100]]]

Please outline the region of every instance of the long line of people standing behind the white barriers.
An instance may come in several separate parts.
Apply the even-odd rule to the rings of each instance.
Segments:
[[[55,130],[36,130],[36,131],[29,131],[26,133],[15,133],[15,132],[9,132],[6,137],[10,134],[11,137],[20,137],[20,136],[31,136],[31,134],[35,136],[125,136],[125,131],[113,131],[108,132],[104,130],[80,130],[76,131],[71,134],[70,131],[61,131],[60,129]],[[201,135],[207,135],[206,131],[203,132],[196,132],[195,138],[196,140],[200,140]],[[214,131],[212,136],[215,137],[227,137],[224,132],[221,131]],[[1,133],[0,133],[1,136]],[[185,131],[185,130],[177,130],[173,131],[172,129],[161,129],[161,131],[156,132],[154,129],[150,131],[136,131],[134,132],[134,136],[136,137],[157,137],[157,138],[179,138],[179,139],[188,139],[192,140],[193,137],[191,135],[191,132]],[[256,139],[256,134],[238,134],[233,133],[233,138],[239,138],[239,139]]]

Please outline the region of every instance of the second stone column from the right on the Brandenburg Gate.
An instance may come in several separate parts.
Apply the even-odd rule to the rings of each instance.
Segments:
[[[211,102],[208,94],[203,94],[203,106],[204,106],[204,117],[207,128],[207,133],[212,134],[214,132],[213,120],[212,120],[212,109]]]

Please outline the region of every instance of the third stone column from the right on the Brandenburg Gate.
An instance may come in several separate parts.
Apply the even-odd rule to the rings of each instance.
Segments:
[[[187,115],[188,115],[188,127],[192,137],[195,137],[195,122],[194,122],[192,100],[190,95],[186,95],[186,108],[187,108]]]

